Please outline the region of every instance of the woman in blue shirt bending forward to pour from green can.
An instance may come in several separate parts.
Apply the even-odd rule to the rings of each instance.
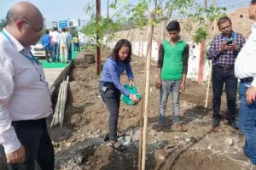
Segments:
[[[109,111],[109,145],[119,151],[125,150],[125,146],[118,141],[118,137],[122,134],[117,133],[120,96],[124,94],[129,96],[133,102],[138,102],[136,94],[129,94],[127,89],[120,83],[120,75],[124,71],[126,71],[130,86],[134,85],[131,70],[131,42],[121,39],[115,44],[111,56],[103,66],[99,84],[102,100]]]

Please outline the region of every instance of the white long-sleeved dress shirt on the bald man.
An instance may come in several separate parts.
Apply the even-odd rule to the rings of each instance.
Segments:
[[[6,153],[20,148],[12,121],[37,120],[52,113],[44,69],[20,52],[30,55],[15,37],[0,33],[0,144]]]

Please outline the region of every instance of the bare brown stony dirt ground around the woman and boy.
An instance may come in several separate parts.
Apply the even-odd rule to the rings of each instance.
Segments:
[[[138,64],[137,59],[133,59],[135,83],[140,92],[143,90],[143,65],[143,62]],[[186,90],[181,95],[180,119],[188,132],[172,131],[171,99],[166,106],[166,118],[170,123],[161,132],[156,131],[159,115],[159,90],[154,88],[156,74],[153,63],[146,169],[245,169],[246,164],[230,161],[224,156],[225,152],[241,151],[241,133],[232,130],[226,122],[221,122],[218,133],[212,132],[211,109],[202,106],[206,93],[206,86],[203,84],[188,81]],[[132,141],[124,153],[119,153],[103,142],[108,133],[108,110],[98,92],[96,66],[82,63],[74,65],[70,80],[64,127],[49,129],[55,145],[57,169],[137,169],[138,126],[142,103],[136,106],[124,103],[120,105],[118,128],[128,133]],[[125,74],[121,76],[121,82],[128,82]],[[227,140],[232,140],[234,144],[228,144]]]

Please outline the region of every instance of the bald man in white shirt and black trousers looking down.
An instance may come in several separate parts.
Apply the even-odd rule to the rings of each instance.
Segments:
[[[9,170],[54,170],[46,117],[52,104],[44,69],[30,52],[42,37],[44,17],[32,3],[16,3],[0,33],[0,144]]]

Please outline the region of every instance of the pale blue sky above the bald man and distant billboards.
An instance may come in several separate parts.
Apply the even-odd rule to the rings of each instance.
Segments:
[[[20,0],[0,0],[0,20],[5,19],[7,11]],[[96,0],[23,0],[33,3],[44,15],[46,27],[52,27],[53,21],[67,20],[68,18],[79,18],[80,20],[90,20],[90,16],[85,14],[84,8],[88,3]],[[136,2],[137,0],[132,0]],[[113,0],[109,0],[112,3]],[[107,0],[102,0],[102,15],[107,15]],[[109,14],[113,11],[110,9]]]

